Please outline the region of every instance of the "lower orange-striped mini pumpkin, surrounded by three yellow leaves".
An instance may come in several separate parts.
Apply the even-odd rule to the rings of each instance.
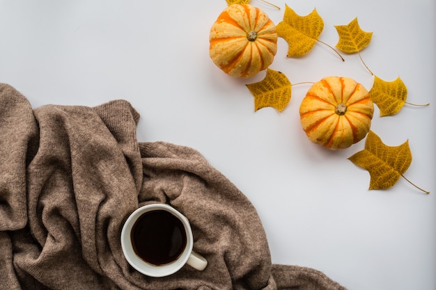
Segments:
[[[341,150],[363,139],[371,127],[374,105],[368,91],[353,79],[327,76],[309,88],[299,107],[309,139]]]

